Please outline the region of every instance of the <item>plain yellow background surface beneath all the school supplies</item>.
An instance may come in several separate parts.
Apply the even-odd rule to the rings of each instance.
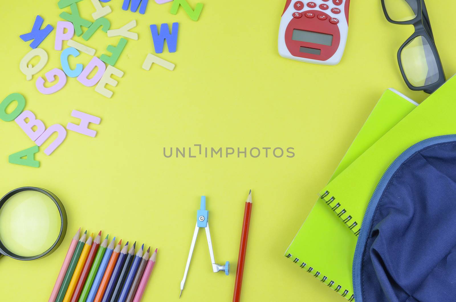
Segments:
[[[190,1],[192,7],[196,0]],[[149,0],[145,15],[108,5],[111,29],[135,19],[139,40],[128,43],[115,67],[124,71],[111,99],[75,78],[52,95],[40,94],[38,76],[60,67],[55,29],[40,45],[47,66],[26,81],[19,70],[31,50],[19,38],[39,14],[56,26],[62,10],[55,1],[4,1],[0,46],[1,97],[19,92],[26,109],[50,126],[77,122],[73,109],[101,117],[95,138],[68,131],[51,155],[36,158],[40,168],[8,163],[8,155],[33,146],[16,123],[0,121],[1,194],[22,186],[44,187],[64,203],[68,231],[52,255],[30,262],[0,259],[4,301],[47,301],[74,232],[137,240],[159,248],[145,301],[177,301],[200,195],[207,195],[216,261],[231,261],[231,274],[212,273],[207,242],[200,231],[182,301],[231,301],[244,201],[252,189],[254,208],[242,287],[243,301],[344,301],[283,254],[323,187],[384,89],[394,87],[412,99],[426,94],[405,86],[396,52],[412,26],[386,21],[380,1],[352,1],[344,57],[337,66],[288,60],[277,52],[285,0],[204,1],[200,19],[182,8]],[[106,4],[103,4],[106,5]],[[456,72],[454,1],[427,3],[446,76]],[[89,0],[78,3],[91,20]],[[69,8],[64,9],[69,11]],[[177,52],[160,57],[174,71],[141,68],[153,51],[150,24],[179,22]],[[85,30],[85,29],[84,29]],[[106,52],[119,37],[102,31],[85,42]],[[66,42],[64,42],[66,47]],[[107,53],[109,54],[109,53]],[[84,65],[90,56],[71,60]],[[165,158],[163,147],[294,147],[295,157]],[[188,151],[188,150],[187,150]],[[192,150],[193,151],[193,150]],[[324,221],[321,222],[324,227]],[[337,265],[337,251],[320,250]]]

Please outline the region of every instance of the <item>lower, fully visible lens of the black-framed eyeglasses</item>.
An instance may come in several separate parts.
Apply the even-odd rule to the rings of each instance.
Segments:
[[[439,80],[439,69],[429,42],[417,36],[400,53],[405,77],[415,87],[423,87]]]

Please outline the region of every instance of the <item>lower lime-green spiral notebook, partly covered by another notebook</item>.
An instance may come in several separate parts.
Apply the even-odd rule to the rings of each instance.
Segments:
[[[386,90],[343,157],[332,178],[416,107],[393,89]],[[342,227],[325,203],[317,202],[285,256],[342,296],[353,300],[352,258],[357,237]]]

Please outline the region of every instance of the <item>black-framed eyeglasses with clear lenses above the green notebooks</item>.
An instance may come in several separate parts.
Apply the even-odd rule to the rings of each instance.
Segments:
[[[415,26],[415,32],[398,51],[399,69],[405,83],[409,89],[433,93],[446,79],[424,0],[381,1],[389,22]]]

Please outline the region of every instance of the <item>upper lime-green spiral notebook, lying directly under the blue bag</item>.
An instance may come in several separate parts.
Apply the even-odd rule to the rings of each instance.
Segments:
[[[389,165],[410,146],[439,135],[456,134],[456,77],[449,79],[320,192],[322,204],[357,235],[369,200]],[[328,206],[329,205],[329,206]],[[337,206],[337,208],[335,208]],[[343,213],[342,213],[343,212]],[[352,222],[357,223],[352,227]]]

